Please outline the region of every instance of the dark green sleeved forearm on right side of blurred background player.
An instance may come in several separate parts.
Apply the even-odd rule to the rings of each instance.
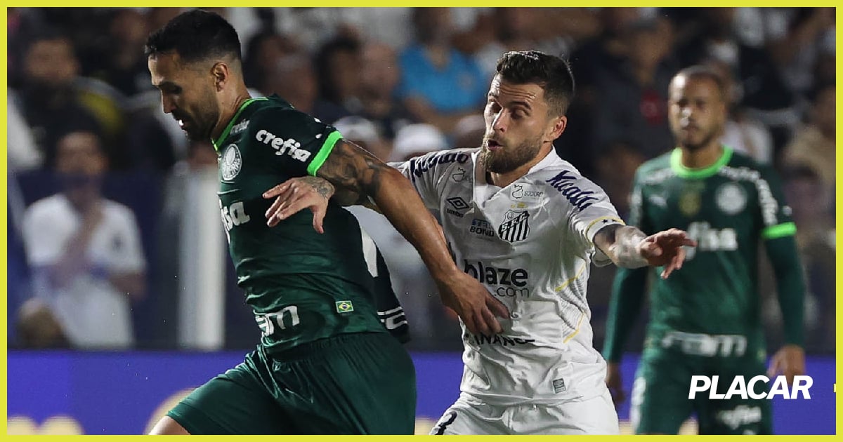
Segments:
[[[794,237],[765,242],[767,256],[776,274],[776,293],[786,343],[804,346],[805,281]]]

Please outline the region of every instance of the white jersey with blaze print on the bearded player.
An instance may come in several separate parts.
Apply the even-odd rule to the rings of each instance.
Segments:
[[[592,240],[623,221],[603,189],[556,152],[503,189],[487,184],[479,154],[440,151],[392,164],[440,210],[457,265],[511,312],[499,335],[473,335],[462,324],[460,389],[500,405],[597,397],[605,362],[592,344],[586,285],[592,261],[610,261]]]

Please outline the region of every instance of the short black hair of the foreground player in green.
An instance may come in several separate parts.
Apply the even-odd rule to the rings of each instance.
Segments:
[[[185,62],[234,56],[240,61],[237,31],[222,16],[201,9],[180,13],[147,39],[147,56],[173,52]]]

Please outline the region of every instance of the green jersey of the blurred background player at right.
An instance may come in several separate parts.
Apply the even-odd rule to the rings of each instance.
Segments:
[[[667,280],[652,270],[648,337],[678,330],[763,342],[759,243],[796,232],[780,180],[771,168],[728,147],[709,168],[688,169],[680,159],[677,148],[643,164],[632,192],[631,225],[647,235],[676,227],[698,242]],[[619,269],[618,279],[631,272]]]

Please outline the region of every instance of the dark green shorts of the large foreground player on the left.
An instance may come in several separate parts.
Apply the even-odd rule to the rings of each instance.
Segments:
[[[190,434],[413,434],[416,370],[389,333],[258,346],[167,415]]]

